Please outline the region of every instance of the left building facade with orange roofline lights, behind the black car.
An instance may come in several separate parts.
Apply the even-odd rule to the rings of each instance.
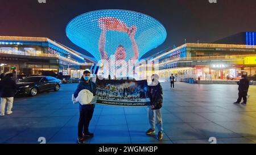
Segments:
[[[93,63],[46,37],[0,36],[0,73],[29,76],[52,71],[79,78]]]

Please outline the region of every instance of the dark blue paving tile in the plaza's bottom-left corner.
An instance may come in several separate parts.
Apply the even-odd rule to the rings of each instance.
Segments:
[[[11,139],[12,137],[15,137],[20,132],[23,132],[26,129],[27,128],[24,128],[24,127],[12,127],[12,128],[1,129],[0,143],[6,143],[7,140]]]

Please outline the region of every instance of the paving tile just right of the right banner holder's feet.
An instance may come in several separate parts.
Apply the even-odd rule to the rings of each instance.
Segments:
[[[196,140],[208,139],[199,131],[196,131],[187,123],[164,123],[164,132],[172,140]]]

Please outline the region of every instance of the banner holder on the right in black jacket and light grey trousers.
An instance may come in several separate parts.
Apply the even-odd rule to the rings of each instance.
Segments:
[[[156,120],[156,127],[158,128],[158,140],[163,139],[163,122],[162,122],[162,112],[161,108],[163,105],[163,89],[158,81],[159,76],[158,74],[153,74],[151,76],[152,83],[149,85],[150,89],[150,105],[148,107],[148,120],[150,123],[150,129],[146,131],[147,135],[155,133],[155,120]],[[155,119],[156,118],[156,119]]]

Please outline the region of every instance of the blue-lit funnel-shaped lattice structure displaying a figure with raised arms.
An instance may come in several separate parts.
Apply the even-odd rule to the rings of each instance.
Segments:
[[[97,10],[72,19],[68,38],[97,61],[138,60],[166,40],[166,29],[151,16],[128,10]],[[112,74],[113,75],[113,74]]]

